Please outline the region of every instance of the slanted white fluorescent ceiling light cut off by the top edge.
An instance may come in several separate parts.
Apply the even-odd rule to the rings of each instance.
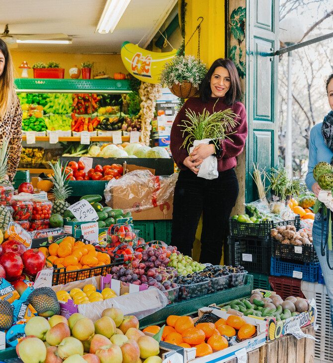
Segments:
[[[131,0],[107,0],[95,30],[101,34],[113,33]]]

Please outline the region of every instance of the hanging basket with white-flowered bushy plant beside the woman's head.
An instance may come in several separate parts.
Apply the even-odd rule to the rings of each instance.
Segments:
[[[207,71],[206,64],[194,56],[175,56],[165,64],[160,82],[179,98],[193,97]]]

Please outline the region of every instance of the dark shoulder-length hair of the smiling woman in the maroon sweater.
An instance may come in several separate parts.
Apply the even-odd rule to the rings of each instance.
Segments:
[[[202,102],[207,102],[208,98],[212,94],[212,90],[210,88],[210,79],[217,67],[226,68],[230,75],[230,89],[226,93],[225,102],[227,104],[234,104],[239,101],[242,95],[241,90],[241,82],[240,77],[237,72],[237,68],[233,61],[227,58],[219,58],[217,59],[209,68],[205,78],[202,80],[200,85],[200,99]]]

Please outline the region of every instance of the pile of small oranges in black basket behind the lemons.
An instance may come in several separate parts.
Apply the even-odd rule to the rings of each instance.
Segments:
[[[46,256],[47,261],[60,269],[59,272],[84,270],[111,263],[108,254],[97,252],[93,245],[86,245],[82,241],[75,242],[75,238],[69,236],[59,244],[52,243],[48,248],[40,247],[39,250]],[[72,277],[68,275],[67,282],[77,277],[77,273]]]

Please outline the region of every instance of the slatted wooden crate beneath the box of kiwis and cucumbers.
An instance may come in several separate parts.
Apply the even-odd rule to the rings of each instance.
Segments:
[[[302,328],[304,334],[314,336],[312,325]],[[289,334],[266,343],[248,353],[248,363],[313,363],[315,341],[303,338],[297,340]],[[227,363],[237,363],[237,358]]]

